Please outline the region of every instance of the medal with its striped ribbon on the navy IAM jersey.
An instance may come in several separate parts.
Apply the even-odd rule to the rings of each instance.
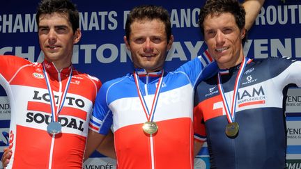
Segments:
[[[224,110],[226,111],[226,117],[229,122],[226,125],[225,133],[226,133],[226,136],[228,136],[229,138],[236,137],[238,135],[238,131],[239,131],[238,122],[235,122],[236,101],[237,101],[238,88],[240,86],[240,79],[242,78],[242,74],[247,65],[247,61],[249,61],[249,59],[244,57],[242,59],[242,63],[240,63],[240,70],[238,70],[238,74],[236,76],[236,83],[234,84],[234,89],[233,89],[233,99],[232,99],[231,110],[229,108],[228,102],[226,101],[226,96],[224,95],[224,88],[222,87],[221,74],[220,73],[217,74],[217,86],[219,88],[219,93],[221,93],[221,95],[222,95],[222,102],[224,105]]]

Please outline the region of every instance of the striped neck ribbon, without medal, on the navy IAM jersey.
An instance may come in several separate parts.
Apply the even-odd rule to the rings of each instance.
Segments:
[[[226,97],[224,95],[224,88],[222,87],[221,74],[218,73],[218,76],[217,76],[217,86],[219,88],[219,93],[221,93],[221,95],[222,95],[222,102],[223,102],[224,110],[226,111],[226,117],[227,117],[229,123],[235,122],[237,93],[238,93],[238,88],[240,86],[240,79],[242,78],[242,74],[247,65],[247,61],[249,61],[249,58],[244,57],[242,59],[242,63],[240,63],[240,69],[238,70],[238,74],[236,76],[236,83],[234,84],[234,89],[233,89],[233,99],[232,99],[231,110],[229,108],[229,104],[226,101]]]

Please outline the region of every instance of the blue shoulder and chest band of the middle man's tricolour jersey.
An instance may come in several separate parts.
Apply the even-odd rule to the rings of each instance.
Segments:
[[[203,65],[199,61],[199,58],[194,58],[192,61],[185,63],[180,66],[176,71],[164,73],[164,78],[162,82],[161,92],[166,92],[174,88],[179,88],[187,84],[194,87],[197,82],[205,79],[211,74],[215,73],[217,69],[216,64],[208,66],[208,68],[203,70]],[[196,76],[196,74],[198,76]],[[148,79],[147,79],[148,78]],[[156,85],[157,77],[139,77],[140,88],[143,95],[146,95],[145,84],[148,81],[149,85]],[[166,86],[169,84],[169,86]],[[107,91],[107,92],[106,92]],[[113,93],[114,92],[114,93]],[[155,93],[155,88],[148,87],[148,95],[153,95]],[[127,74],[125,77],[114,79],[108,81],[102,85],[99,95],[108,95],[107,104],[111,104],[116,99],[127,98],[127,97],[138,97],[137,88],[134,83],[134,77],[132,74]]]

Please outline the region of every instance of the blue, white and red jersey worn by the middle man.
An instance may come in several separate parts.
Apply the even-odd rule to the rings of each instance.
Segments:
[[[139,99],[133,74],[107,81],[95,101],[90,129],[107,134],[114,132],[119,169],[193,168],[193,95],[196,83],[210,73],[203,70],[210,60],[194,58],[174,72],[164,72],[153,113],[155,134],[142,129],[148,121]],[[216,69],[216,65],[213,66]],[[136,70],[139,88],[151,112],[158,79],[162,72],[146,74]]]

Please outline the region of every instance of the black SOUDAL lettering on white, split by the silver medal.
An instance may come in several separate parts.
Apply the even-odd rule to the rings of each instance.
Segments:
[[[58,121],[61,123],[62,127],[68,127],[70,129],[77,129],[79,131],[84,131],[84,121],[78,120],[71,117],[59,117]],[[26,122],[36,122],[37,124],[49,124],[52,122],[51,115],[42,114],[42,113],[33,113],[28,112],[26,114]]]

